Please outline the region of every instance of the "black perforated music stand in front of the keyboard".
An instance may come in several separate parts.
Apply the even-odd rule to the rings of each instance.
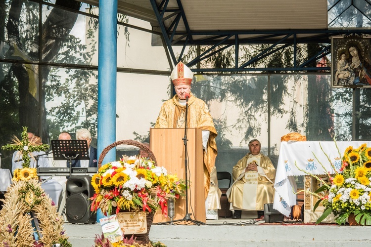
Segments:
[[[89,160],[88,142],[86,140],[51,140],[51,150],[55,161],[68,161],[70,176],[72,160]]]

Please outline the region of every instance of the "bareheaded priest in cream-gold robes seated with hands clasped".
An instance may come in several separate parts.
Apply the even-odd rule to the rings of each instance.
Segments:
[[[273,203],[276,169],[260,149],[260,141],[251,140],[250,153],[233,166],[234,183],[227,196],[234,219],[241,218],[241,210],[259,211],[264,209],[264,204]]]

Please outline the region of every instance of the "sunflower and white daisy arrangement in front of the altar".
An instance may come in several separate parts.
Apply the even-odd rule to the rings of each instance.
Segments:
[[[325,207],[317,223],[332,212],[338,224],[344,224],[353,213],[358,224],[371,225],[371,147],[366,144],[357,149],[348,147],[342,157],[341,168],[338,171],[332,168],[335,174],[328,172],[330,184],[322,181],[324,185],[315,192],[320,200],[314,210],[320,203]],[[323,194],[318,194],[321,192]]]

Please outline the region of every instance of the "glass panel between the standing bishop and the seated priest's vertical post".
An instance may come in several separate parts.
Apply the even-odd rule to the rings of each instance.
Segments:
[[[257,138],[268,154],[267,76],[195,76],[191,91],[209,106],[218,132],[217,169],[232,171]]]

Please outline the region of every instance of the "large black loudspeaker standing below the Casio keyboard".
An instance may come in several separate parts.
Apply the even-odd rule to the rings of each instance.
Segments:
[[[66,183],[66,216],[70,223],[95,224],[96,214],[90,211],[94,189],[91,176],[71,176]]]

